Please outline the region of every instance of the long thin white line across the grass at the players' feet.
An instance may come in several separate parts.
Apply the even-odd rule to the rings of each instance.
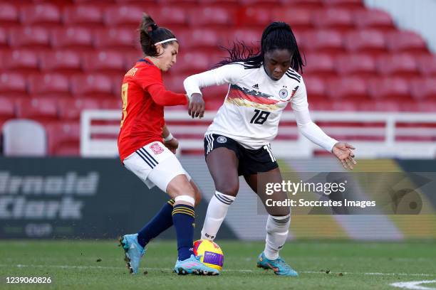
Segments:
[[[36,264],[0,264],[0,267],[17,267],[17,268],[25,268],[25,267],[40,267],[40,268],[59,268],[59,269],[125,269],[125,267],[110,267],[110,266],[73,266],[73,265],[36,265]],[[147,268],[147,270],[155,270],[155,271],[167,271],[170,268]],[[223,272],[259,272],[259,270],[251,270],[251,269],[223,269]],[[323,271],[299,271],[303,274],[326,274]],[[369,275],[369,276],[436,276],[436,274],[415,274],[415,273],[360,273],[360,272],[330,272],[329,274],[348,274],[348,275]]]

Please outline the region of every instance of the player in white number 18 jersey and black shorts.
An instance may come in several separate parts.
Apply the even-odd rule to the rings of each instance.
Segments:
[[[281,173],[269,142],[277,134],[281,112],[290,102],[301,133],[313,143],[331,151],[345,168],[353,168],[353,146],[327,136],[311,121],[306,87],[301,71],[303,61],[291,27],[283,22],[267,26],[259,53],[242,45],[229,50],[230,57],[218,68],[187,77],[185,90],[190,97],[189,113],[202,117],[204,101],[200,88],[229,84],[224,104],[219,108],[204,138],[204,154],[215,185],[207,208],[202,239],[214,240],[229,205],[239,190],[238,176],[244,176],[265,203],[265,183],[281,183]],[[260,184],[258,184],[260,183]],[[286,193],[268,195],[285,200]],[[266,245],[257,266],[275,274],[298,276],[279,249],[284,246],[290,225],[289,207],[266,207]]]

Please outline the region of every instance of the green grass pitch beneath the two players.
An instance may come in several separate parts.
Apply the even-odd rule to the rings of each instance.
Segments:
[[[128,274],[113,241],[0,242],[0,289],[399,289],[400,281],[436,280],[436,242],[291,241],[281,256],[299,277],[256,268],[263,242],[217,241],[219,276],[177,276],[175,241],[150,243],[141,271]],[[144,274],[144,272],[147,274]],[[328,272],[328,273],[327,273]],[[51,284],[6,284],[6,276],[50,276]],[[436,283],[425,284],[436,287]]]

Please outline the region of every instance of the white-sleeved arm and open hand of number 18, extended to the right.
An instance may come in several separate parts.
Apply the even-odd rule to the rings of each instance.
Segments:
[[[355,149],[354,146],[331,138],[312,121],[308,110],[306,85],[304,85],[303,80],[301,80],[301,85],[296,95],[291,99],[291,104],[301,134],[335,155],[341,161],[343,168],[353,169],[353,164],[356,164],[352,151]]]

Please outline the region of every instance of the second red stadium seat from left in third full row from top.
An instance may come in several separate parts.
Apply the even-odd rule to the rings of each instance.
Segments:
[[[56,50],[41,54],[41,70],[56,73],[80,73],[81,57],[73,50]]]

